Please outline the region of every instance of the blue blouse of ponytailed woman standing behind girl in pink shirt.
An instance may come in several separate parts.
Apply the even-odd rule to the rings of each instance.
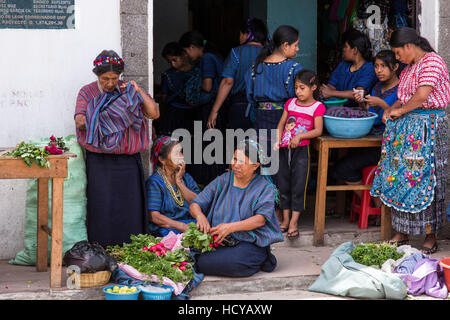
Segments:
[[[254,80],[250,69],[245,76],[248,101],[253,105],[258,102],[285,103],[295,97],[294,80],[302,69],[301,64],[291,59],[279,63],[263,62],[255,69]]]

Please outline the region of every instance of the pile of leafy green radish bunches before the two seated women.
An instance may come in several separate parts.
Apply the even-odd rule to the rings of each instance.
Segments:
[[[184,248],[167,251],[165,255],[157,255],[156,252],[148,250],[148,248],[156,245],[161,241],[151,235],[132,235],[130,243],[124,243],[122,246],[109,246],[106,252],[117,260],[132,266],[142,274],[156,275],[162,281],[163,277],[167,277],[174,282],[187,283],[194,278],[192,269],[192,259],[189,251]],[[186,262],[186,268],[178,267],[182,262]]]

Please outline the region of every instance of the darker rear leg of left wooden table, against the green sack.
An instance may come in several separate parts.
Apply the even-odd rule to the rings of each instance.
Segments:
[[[48,179],[38,179],[38,211],[37,211],[37,248],[36,270],[47,271],[48,267],[48,234],[42,226],[48,225]]]

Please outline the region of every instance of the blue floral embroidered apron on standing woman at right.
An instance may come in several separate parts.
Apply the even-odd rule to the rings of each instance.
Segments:
[[[414,110],[387,121],[381,158],[370,190],[398,211],[423,211],[434,200],[437,118],[444,110]]]

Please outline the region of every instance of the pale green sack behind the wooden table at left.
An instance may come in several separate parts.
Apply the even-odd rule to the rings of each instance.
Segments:
[[[38,146],[46,146],[48,138],[29,143]],[[75,135],[64,138],[69,152],[77,155],[69,158],[68,176],[64,179],[64,202],[63,202],[63,255],[70,250],[78,241],[87,240],[86,231],[86,166],[83,149],[78,144]],[[51,196],[52,182],[49,179],[49,218],[48,226],[51,228]],[[18,252],[10,264],[23,266],[36,265],[36,232],[37,232],[37,179],[30,179],[27,189],[26,215],[25,215],[25,249]],[[48,262],[50,262],[51,237],[48,237]]]

